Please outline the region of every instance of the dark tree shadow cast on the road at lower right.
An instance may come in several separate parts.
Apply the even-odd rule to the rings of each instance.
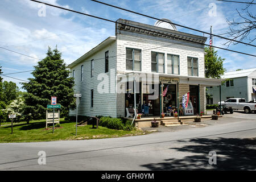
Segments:
[[[178,152],[188,152],[183,159],[166,159],[162,163],[144,164],[151,170],[255,170],[256,138],[196,138],[180,140],[189,143],[180,148],[170,148]],[[209,151],[216,151],[217,164],[209,164]],[[175,154],[175,153],[174,153]]]

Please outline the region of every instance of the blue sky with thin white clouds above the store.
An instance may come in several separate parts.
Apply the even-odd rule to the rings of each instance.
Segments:
[[[101,16],[106,19],[117,20],[118,18],[134,20],[136,22],[154,25],[156,20],[143,16],[114,9],[89,0],[42,0],[69,9],[82,11],[84,13]],[[228,31],[226,19],[241,20],[236,9],[241,10],[245,5],[239,3],[228,3],[214,0],[108,0],[104,1],[124,7],[126,9],[139,11],[143,14],[155,16],[156,18],[168,18],[172,22],[184,26],[197,28],[209,32],[213,26],[214,34],[222,34]],[[216,5],[216,16],[210,16],[210,3]],[[250,11],[255,12],[255,5]],[[0,46],[16,52],[43,59],[46,56],[48,46],[58,46],[63,53],[66,64],[70,64],[87,51],[97,46],[102,40],[115,35],[114,23],[104,20],[90,18],[84,15],[70,13],[53,7],[46,8],[46,16],[38,16],[40,7],[38,3],[28,0],[1,0],[0,1]],[[196,35],[203,35],[200,32],[177,27],[178,31]],[[251,32],[255,36],[256,31]],[[205,35],[208,36],[208,35]],[[225,36],[225,35],[224,35]],[[214,46],[225,47],[222,44],[225,40],[214,38]],[[209,38],[207,40],[209,44]],[[252,43],[255,45],[255,42]],[[229,49],[256,55],[255,47],[243,44],[231,45]],[[225,58],[224,67],[227,71],[236,69],[256,68],[256,58],[241,55],[234,52],[219,49],[218,55]],[[0,49],[0,65],[3,67],[3,74],[28,71],[34,69],[36,59],[31,59]],[[30,73],[19,73],[10,75],[12,77],[27,80],[32,77]],[[18,80],[3,77],[4,80]]]

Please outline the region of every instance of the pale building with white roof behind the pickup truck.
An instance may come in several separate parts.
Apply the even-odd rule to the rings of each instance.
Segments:
[[[256,68],[226,72],[223,79],[228,81],[221,86],[221,101],[228,98],[245,98],[247,102],[256,100]],[[207,104],[220,102],[219,92],[218,86],[209,87],[207,93],[211,98],[207,99]]]

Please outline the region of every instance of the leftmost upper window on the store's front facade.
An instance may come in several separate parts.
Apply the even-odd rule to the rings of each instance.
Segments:
[[[141,71],[141,50],[126,48],[126,70]]]

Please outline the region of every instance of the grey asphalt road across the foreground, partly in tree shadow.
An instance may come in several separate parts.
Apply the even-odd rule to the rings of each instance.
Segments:
[[[39,151],[46,152],[45,165],[38,164]],[[209,164],[210,151],[217,164]],[[255,170],[256,114],[135,137],[2,143],[0,154],[0,170]]]

